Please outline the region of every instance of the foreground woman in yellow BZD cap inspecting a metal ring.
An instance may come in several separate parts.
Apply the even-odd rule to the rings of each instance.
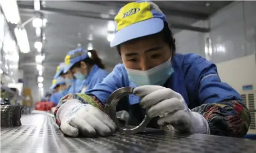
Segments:
[[[175,53],[167,18],[156,4],[131,2],[119,10],[115,22],[110,46],[123,64],[92,90],[69,94],[59,102],[56,122],[63,133],[94,137],[116,132],[104,105],[122,87],[135,87],[140,99],[129,96],[129,112],[138,121],[146,113],[152,118],[148,127],[228,137],[247,133],[250,115],[239,93],[221,82],[213,63],[197,54]]]

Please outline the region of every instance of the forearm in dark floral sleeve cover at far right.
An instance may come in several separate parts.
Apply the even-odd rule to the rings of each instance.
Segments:
[[[249,129],[249,110],[239,101],[203,104],[192,111],[205,117],[212,135],[243,137]]]

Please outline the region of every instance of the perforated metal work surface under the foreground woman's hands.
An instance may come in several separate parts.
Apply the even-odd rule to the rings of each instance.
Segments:
[[[135,135],[67,138],[47,113],[23,115],[20,127],[1,128],[1,152],[256,152],[256,141],[211,135],[173,135],[147,129]]]

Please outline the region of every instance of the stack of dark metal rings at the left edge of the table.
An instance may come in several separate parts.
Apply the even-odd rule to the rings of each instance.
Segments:
[[[21,126],[23,105],[1,105],[1,127]]]

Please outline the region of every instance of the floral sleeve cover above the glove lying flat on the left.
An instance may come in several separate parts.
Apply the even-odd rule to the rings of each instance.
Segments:
[[[55,118],[56,118],[56,123],[60,126],[61,121],[56,117],[57,112],[59,107],[63,105],[65,102],[69,101],[70,99],[77,99],[78,101],[81,101],[83,104],[90,104],[93,105],[94,107],[97,107],[100,110],[104,110],[104,106],[102,103],[96,98],[96,96],[93,95],[88,95],[88,94],[83,94],[83,93],[70,93],[64,96],[60,101],[58,106],[55,109]]]

